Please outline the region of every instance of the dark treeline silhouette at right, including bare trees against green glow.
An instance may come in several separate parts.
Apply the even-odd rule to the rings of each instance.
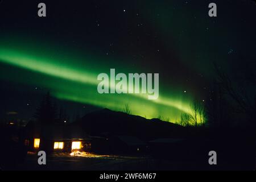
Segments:
[[[191,113],[182,113],[181,126],[212,128],[256,127],[256,61],[234,61],[229,71],[213,63],[215,77],[209,83],[207,99],[191,103]],[[242,60],[242,61],[241,61]]]

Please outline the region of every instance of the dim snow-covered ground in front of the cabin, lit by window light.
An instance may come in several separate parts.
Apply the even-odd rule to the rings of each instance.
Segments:
[[[90,171],[90,170],[126,170],[146,169],[148,158],[117,155],[52,154],[47,156],[46,165],[38,164],[38,156],[28,154],[25,162],[19,164],[18,170],[61,170],[61,171]]]

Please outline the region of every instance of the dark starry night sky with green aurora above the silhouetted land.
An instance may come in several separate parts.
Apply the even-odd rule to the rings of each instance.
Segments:
[[[38,3],[47,17],[38,17]],[[217,17],[208,16],[210,2]],[[209,100],[213,62],[234,72],[256,58],[253,1],[13,1],[0,3],[1,115],[31,118],[49,90],[72,114],[94,108],[175,122]],[[159,98],[98,94],[97,75],[159,73]]]

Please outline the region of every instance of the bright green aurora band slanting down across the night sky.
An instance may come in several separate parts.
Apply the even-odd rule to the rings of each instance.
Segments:
[[[30,52],[26,51],[30,50]],[[33,51],[31,51],[33,50]],[[170,121],[176,121],[180,114],[189,113],[189,102],[191,98],[185,98],[184,92],[180,90],[180,96],[172,93],[164,95],[163,90],[159,92],[158,100],[148,100],[145,94],[99,94],[97,92],[97,75],[101,72],[109,72],[108,64],[100,65],[93,69],[95,61],[100,58],[88,56],[89,58],[72,60],[70,57],[61,57],[56,54],[46,53],[46,50],[26,47],[19,49],[0,47],[0,62],[12,67],[22,68],[21,74],[12,75],[6,73],[6,77],[31,85],[39,85],[51,90],[56,98],[107,107],[116,111],[122,111],[125,104],[129,104],[132,114],[141,115],[146,118],[157,118],[159,115]],[[43,52],[43,53],[42,53]],[[82,61],[81,61],[82,60]],[[104,60],[100,60],[104,62]],[[81,66],[82,65],[82,66]],[[126,68],[129,65],[126,65]],[[118,69],[119,70],[119,69]],[[120,69],[120,72],[128,73],[129,68]],[[24,73],[33,73],[36,77],[26,78]],[[161,85],[161,80],[159,81]],[[169,91],[169,90],[164,90]],[[142,109],[143,108],[143,109]]]

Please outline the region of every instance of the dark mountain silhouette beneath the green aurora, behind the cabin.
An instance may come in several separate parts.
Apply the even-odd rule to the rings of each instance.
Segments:
[[[82,127],[90,135],[132,135],[143,139],[175,138],[180,137],[185,131],[184,127],[174,123],[160,119],[146,119],[109,109],[86,114],[72,125]]]

